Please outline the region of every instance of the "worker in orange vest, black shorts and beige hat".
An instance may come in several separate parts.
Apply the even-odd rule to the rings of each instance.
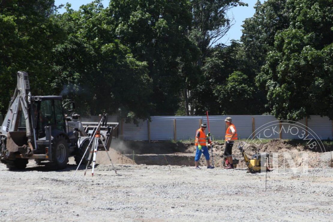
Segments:
[[[230,165],[228,165],[227,169],[233,169],[232,164],[232,146],[234,141],[238,139],[237,130],[234,124],[231,123],[231,117],[225,118],[225,124],[227,125],[227,130],[225,131],[225,149],[224,149],[224,157],[229,160]]]

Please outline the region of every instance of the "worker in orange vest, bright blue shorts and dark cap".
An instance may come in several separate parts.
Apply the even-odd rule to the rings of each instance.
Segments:
[[[199,167],[199,159],[200,159],[202,153],[206,157],[207,169],[214,168],[214,167],[210,166],[210,163],[209,163],[209,152],[208,152],[206,140],[210,135],[209,135],[209,133],[207,135],[205,134],[206,128],[207,128],[206,123],[202,123],[201,127],[198,130],[196,130],[196,133],[195,133],[196,152],[195,152],[194,161],[195,161],[196,169],[201,169]]]

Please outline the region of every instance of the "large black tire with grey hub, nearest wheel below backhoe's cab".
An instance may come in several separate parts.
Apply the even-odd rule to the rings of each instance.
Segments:
[[[57,169],[65,169],[68,163],[69,149],[64,136],[58,136],[52,145],[52,162]]]

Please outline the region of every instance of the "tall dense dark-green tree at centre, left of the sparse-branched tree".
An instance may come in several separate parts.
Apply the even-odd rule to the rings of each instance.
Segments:
[[[135,59],[148,64],[155,106],[151,114],[173,115],[185,80],[197,72],[191,61],[199,52],[186,35],[191,25],[189,2],[115,0],[107,11],[120,42]]]

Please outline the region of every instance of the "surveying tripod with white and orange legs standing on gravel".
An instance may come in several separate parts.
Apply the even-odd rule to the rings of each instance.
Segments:
[[[80,165],[81,165],[83,159],[85,158],[86,153],[88,152],[88,150],[90,150],[90,154],[89,154],[89,157],[88,157],[88,162],[87,162],[87,165],[86,165],[86,169],[85,169],[85,171],[84,171],[84,175],[86,175],[86,172],[87,172],[87,169],[88,169],[88,165],[89,165],[89,163],[90,163],[90,160],[92,159],[92,164],[93,164],[93,165],[92,165],[92,172],[91,172],[91,175],[94,176],[94,169],[95,169],[95,164],[96,164],[96,155],[97,155],[98,147],[99,147],[101,144],[102,144],[103,148],[104,148],[105,151],[106,151],[106,154],[108,155],[108,157],[109,157],[109,159],[110,159],[110,162],[111,162],[111,165],[112,165],[112,167],[113,167],[113,170],[115,171],[116,174],[118,174],[117,171],[116,171],[115,166],[114,166],[113,163],[112,163],[111,157],[110,157],[110,155],[109,155],[109,153],[108,153],[108,150],[107,150],[107,148],[106,148],[106,146],[105,146],[105,144],[104,144],[104,142],[103,142],[103,140],[102,140],[102,138],[101,138],[101,134],[100,134],[101,124],[103,123],[103,125],[104,125],[104,124],[106,123],[106,121],[107,121],[107,113],[104,113],[104,114],[102,115],[102,118],[101,118],[100,122],[99,122],[98,125],[97,125],[97,128],[96,128],[94,134],[92,135],[92,137],[91,137],[91,139],[90,139],[90,142],[89,142],[89,144],[88,144],[88,146],[87,146],[86,151],[84,152],[84,154],[83,154],[83,156],[82,156],[82,159],[81,159],[81,161],[80,161],[78,167],[76,168],[76,170],[75,170],[75,172],[74,172],[73,178],[74,178],[76,172],[78,171],[78,169],[79,169],[79,167],[80,167]],[[92,145],[91,145],[91,144],[92,144]]]

